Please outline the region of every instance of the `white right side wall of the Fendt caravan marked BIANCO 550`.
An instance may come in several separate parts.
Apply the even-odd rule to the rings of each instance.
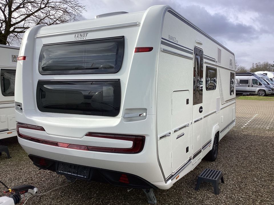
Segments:
[[[199,83],[202,103],[197,105],[193,103],[194,47],[204,53],[203,78]],[[217,71],[216,89],[206,89],[207,67]],[[176,12],[166,11],[157,72],[156,122],[159,158],[167,180],[174,183],[192,170],[212,148],[215,133],[219,133],[220,140],[234,126],[234,79],[233,53]],[[194,115],[200,106],[202,120]],[[174,179],[179,173],[180,177]]]

